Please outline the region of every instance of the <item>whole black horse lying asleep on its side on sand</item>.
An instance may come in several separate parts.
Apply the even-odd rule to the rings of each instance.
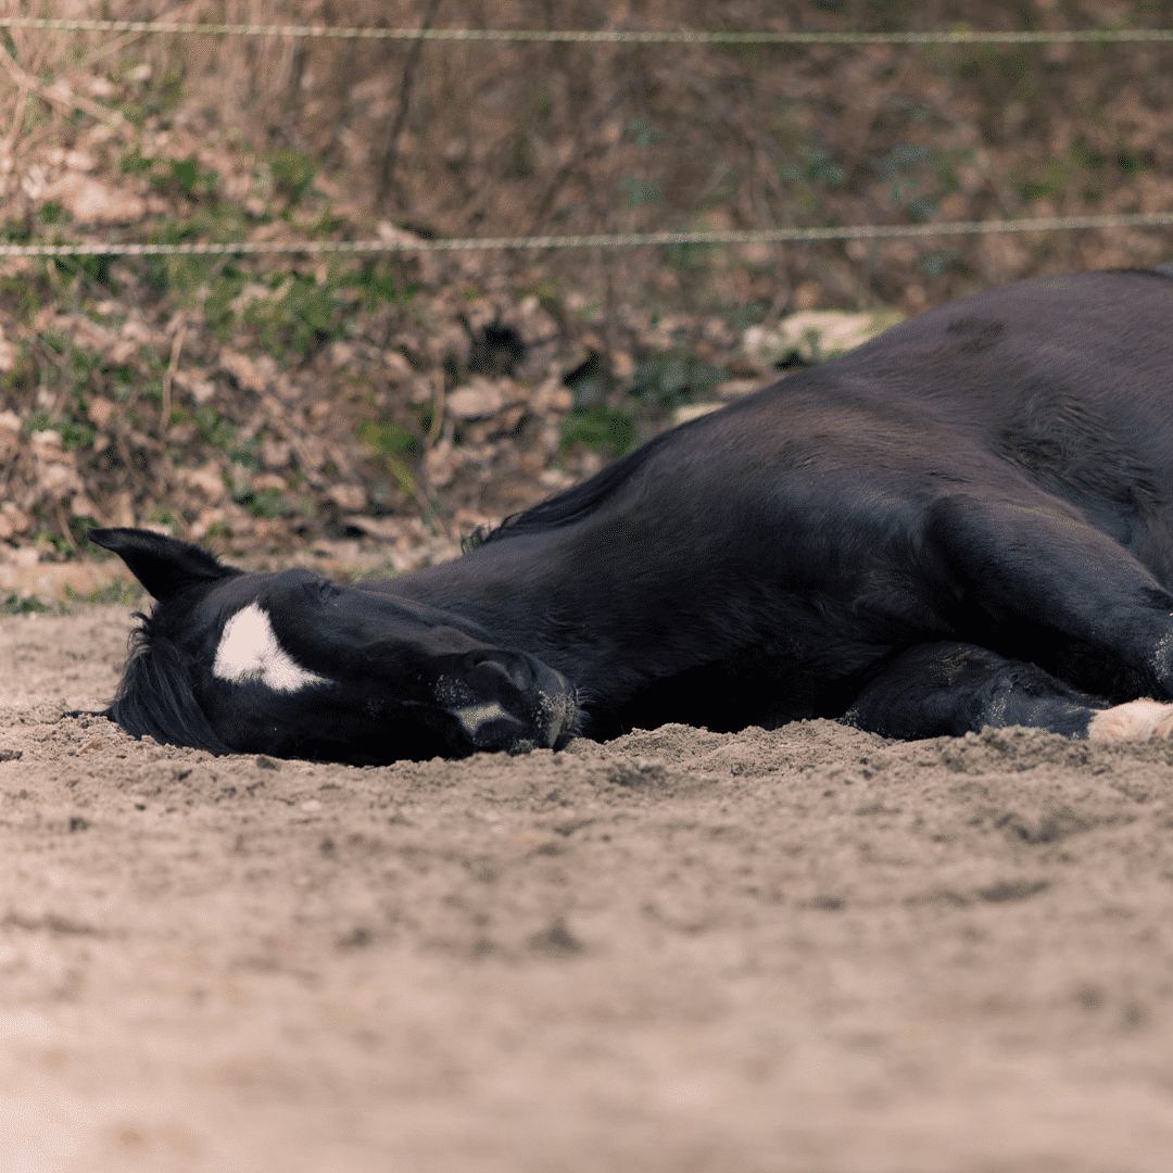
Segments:
[[[357,762],[664,721],[1167,735],[1173,266],[922,314],[447,565],[335,585],[91,533],[158,601],[108,714]]]

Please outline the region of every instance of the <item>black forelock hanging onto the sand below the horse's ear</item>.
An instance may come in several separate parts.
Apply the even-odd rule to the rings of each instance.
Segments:
[[[190,658],[151,616],[135,612],[141,624],[130,635],[127,669],[109,714],[136,738],[184,745],[209,753],[232,751],[216,735],[191,689]]]

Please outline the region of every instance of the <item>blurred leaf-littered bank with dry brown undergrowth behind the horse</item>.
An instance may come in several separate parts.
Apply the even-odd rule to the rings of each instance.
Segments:
[[[50,11],[52,9],[52,11]],[[1161,27],[1153,0],[2,0],[537,29]],[[908,224],[1173,206],[1173,47],[0,33],[14,243]],[[744,330],[1148,265],[1167,230],[0,269],[0,561],[91,521],[399,563],[768,381]],[[7,430],[6,430],[7,429]],[[40,439],[38,439],[40,438]],[[55,438],[55,439],[54,439]],[[425,549],[428,542],[428,551]],[[8,554],[5,554],[5,550]],[[413,562],[413,560],[415,560]]]

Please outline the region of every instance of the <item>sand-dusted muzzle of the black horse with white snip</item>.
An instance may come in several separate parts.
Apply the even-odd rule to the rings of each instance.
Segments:
[[[561,750],[577,717],[574,685],[524,652],[477,651],[438,696],[472,752]]]

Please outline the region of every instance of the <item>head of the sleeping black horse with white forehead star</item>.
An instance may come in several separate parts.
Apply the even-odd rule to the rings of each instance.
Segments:
[[[561,748],[575,690],[475,623],[310,570],[246,572],[147,530],[95,529],[156,599],[109,716],[213,753],[385,762]]]

